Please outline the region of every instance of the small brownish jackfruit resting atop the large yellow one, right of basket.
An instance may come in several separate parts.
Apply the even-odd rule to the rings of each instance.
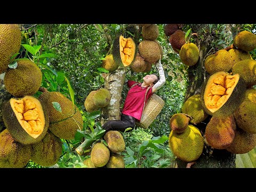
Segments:
[[[183,133],[185,129],[188,127],[189,124],[189,118],[182,113],[174,114],[170,118],[170,128],[175,133]]]

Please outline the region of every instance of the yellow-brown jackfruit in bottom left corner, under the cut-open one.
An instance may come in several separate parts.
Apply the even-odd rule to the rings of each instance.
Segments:
[[[0,168],[23,168],[31,157],[31,145],[14,141],[7,129],[0,133]]]

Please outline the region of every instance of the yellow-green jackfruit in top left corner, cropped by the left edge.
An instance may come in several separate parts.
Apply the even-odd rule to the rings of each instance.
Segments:
[[[11,57],[18,53],[21,45],[21,31],[17,24],[0,24],[0,74],[8,69]]]

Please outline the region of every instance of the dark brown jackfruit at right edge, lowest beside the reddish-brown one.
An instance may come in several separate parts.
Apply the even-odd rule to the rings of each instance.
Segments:
[[[226,148],[233,154],[248,153],[256,146],[256,134],[247,133],[237,127],[233,142]]]

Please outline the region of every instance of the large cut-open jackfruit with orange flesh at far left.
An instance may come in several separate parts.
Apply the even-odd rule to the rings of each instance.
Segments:
[[[33,96],[11,98],[3,106],[3,121],[15,141],[30,145],[41,141],[49,127],[44,103]]]

